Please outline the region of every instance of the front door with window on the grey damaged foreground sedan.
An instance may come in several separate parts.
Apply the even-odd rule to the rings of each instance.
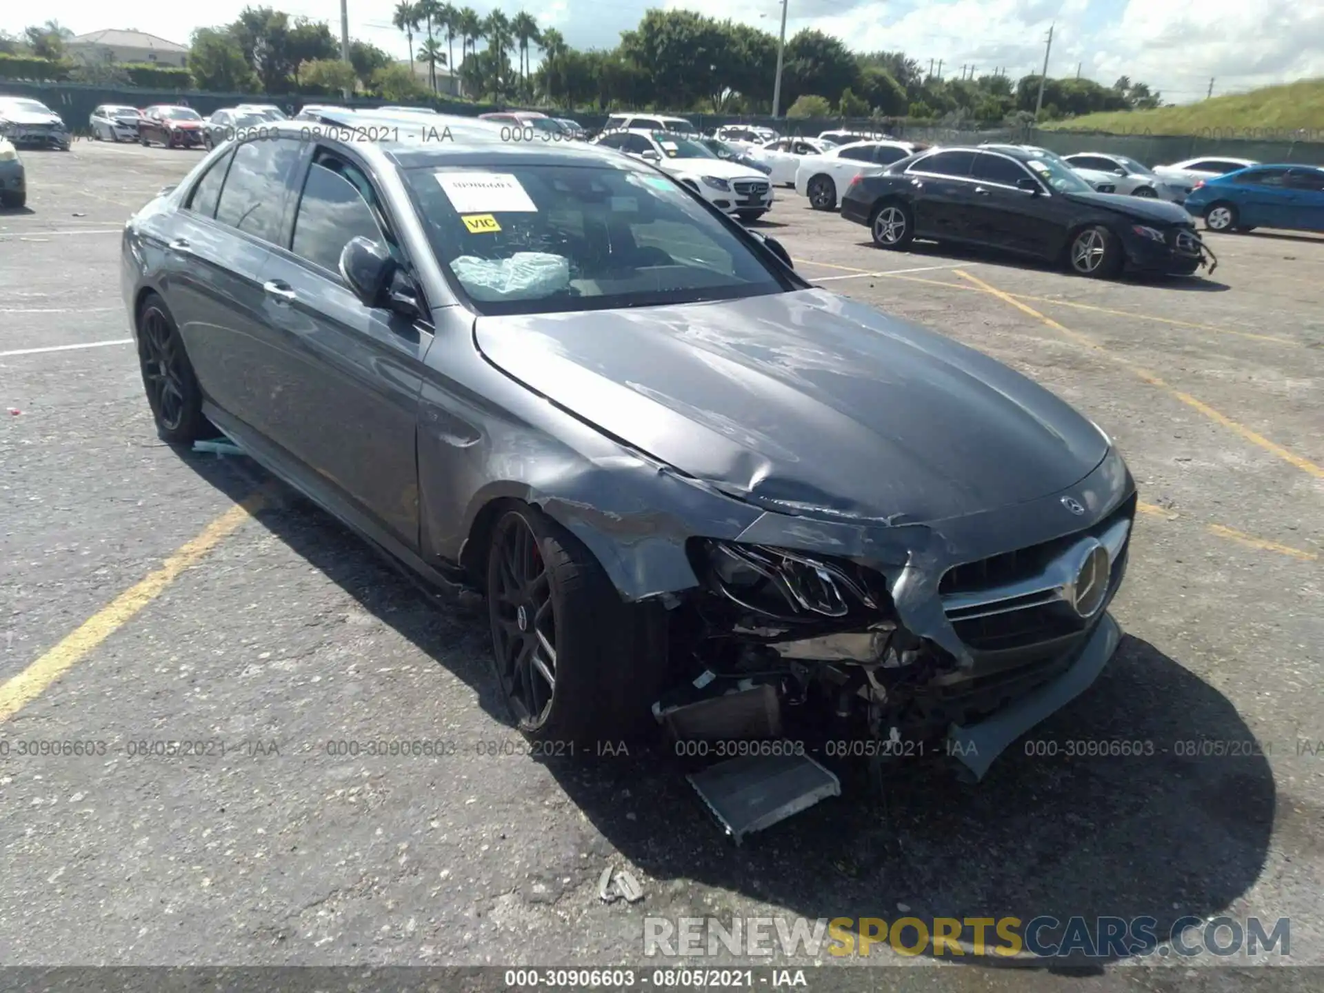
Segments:
[[[270,437],[376,527],[418,547],[414,432],[432,326],[367,307],[339,271],[355,237],[409,267],[368,169],[312,146],[291,195],[290,233],[265,265]]]

